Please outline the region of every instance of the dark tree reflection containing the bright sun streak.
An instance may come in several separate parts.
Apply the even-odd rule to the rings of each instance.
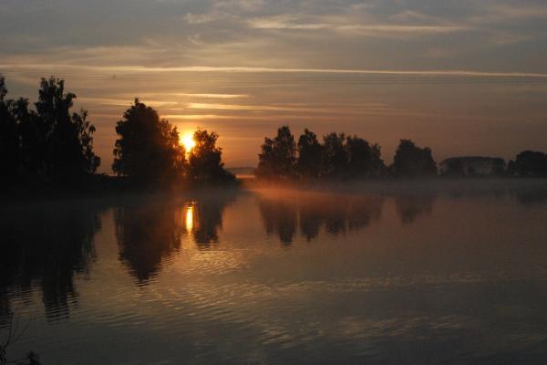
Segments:
[[[183,235],[200,248],[219,242],[222,213],[235,192],[222,190],[186,199],[138,199],[114,214],[119,259],[139,284],[146,284],[181,249]]]

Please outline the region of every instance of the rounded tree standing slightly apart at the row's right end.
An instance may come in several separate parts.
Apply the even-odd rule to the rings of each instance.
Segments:
[[[410,140],[401,140],[391,172],[397,177],[433,176],[437,174],[437,165],[431,155],[431,149],[419,148]]]

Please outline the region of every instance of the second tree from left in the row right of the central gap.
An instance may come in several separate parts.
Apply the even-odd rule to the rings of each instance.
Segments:
[[[296,170],[304,178],[317,178],[321,173],[323,147],[311,130],[304,130],[298,139]]]

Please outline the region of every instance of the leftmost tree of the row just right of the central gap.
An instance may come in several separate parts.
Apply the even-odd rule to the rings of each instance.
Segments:
[[[261,178],[287,179],[294,176],[296,161],[296,143],[289,126],[277,130],[277,136],[272,140],[264,139],[262,153],[258,155],[256,176]]]

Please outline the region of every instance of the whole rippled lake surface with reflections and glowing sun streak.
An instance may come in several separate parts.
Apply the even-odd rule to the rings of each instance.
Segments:
[[[0,339],[13,315],[8,357],[45,365],[547,363],[547,183],[447,184],[4,207]]]

